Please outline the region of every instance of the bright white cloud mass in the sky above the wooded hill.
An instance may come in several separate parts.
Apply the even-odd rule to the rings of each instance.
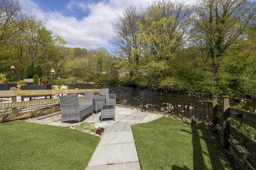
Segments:
[[[189,3],[194,1],[190,0]],[[151,0],[104,0],[95,3],[71,0],[66,5],[67,10],[89,12],[87,16],[78,20],[74,16],[66,16],[58,11],[43,11],[31,0],[19,0],[23,12],[35,15],[36,18],[44,21],[49,30],[68,41],[68,46],[87,49],[111,48],[109,43],[112,33],[111,21],[117,14],[121,14],[125,7],[130,5],[145,7],[150,2]]]

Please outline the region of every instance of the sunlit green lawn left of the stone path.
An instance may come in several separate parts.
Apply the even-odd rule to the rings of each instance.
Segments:
[[[0,123],[0,169],[85,169],[99,137],[56,126]]]

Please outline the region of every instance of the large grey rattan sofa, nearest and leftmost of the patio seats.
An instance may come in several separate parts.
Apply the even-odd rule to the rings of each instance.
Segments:
[[[61,122],[77,121],[92,113],[92,99],[78,100],[77,94],[60,97]]]

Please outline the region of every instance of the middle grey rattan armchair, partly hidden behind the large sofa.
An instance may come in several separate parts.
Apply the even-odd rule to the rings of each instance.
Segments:
[[[93,91],[86,91],[84,95],[86,99],[92,99],[93,112],[95,113],[100,111],[102,106],[105,105],[105,96],[95,96]]]

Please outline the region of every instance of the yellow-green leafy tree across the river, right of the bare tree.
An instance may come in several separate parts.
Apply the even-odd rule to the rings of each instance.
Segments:
[[[173,22],[173,16],[162,16],[161,9],[155,7],[146,15],[145,23],[138,23],[138,35],[147,62],[145,69],[155,86],[166,77],[169,65],[175,58],[173,37],[179,35],[179,32],[168,31]]]

